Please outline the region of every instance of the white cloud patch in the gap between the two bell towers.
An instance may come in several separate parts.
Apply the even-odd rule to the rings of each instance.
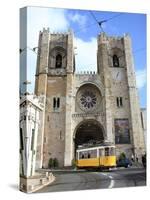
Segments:
[[[96,71],[97,58],[97,39],[91,38],[89,41],[83,41],[75,38],[76,71]]]

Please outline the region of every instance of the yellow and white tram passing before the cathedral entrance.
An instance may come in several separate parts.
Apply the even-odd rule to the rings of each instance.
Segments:
[[[77,168],[109,169],[116,166],[114,145],[81,147],[76,150]]]

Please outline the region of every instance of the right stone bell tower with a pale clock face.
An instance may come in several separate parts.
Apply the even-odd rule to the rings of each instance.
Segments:
[[[117,154],[145,151],[131,39],[98,36],[97,67],[105,88],[106,132]]]

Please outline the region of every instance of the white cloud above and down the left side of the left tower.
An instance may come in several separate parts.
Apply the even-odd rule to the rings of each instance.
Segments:
[[[64,9],[28,7],[27,46],[30,49],[38,46],[39,31],[42,31],[43,28],[49,28],[50,32],[66,32],[69,22],[65,14],[66,11]],[[27,80],[31,81],[28,91],[33,92],[37,55],[30,49],[27,49]],[[22,64],[22,68],[26,67],[24,65],[25,63]]]

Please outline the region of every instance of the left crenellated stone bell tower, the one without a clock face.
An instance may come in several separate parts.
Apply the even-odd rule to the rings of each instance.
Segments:
[[[73,34],[39,34],[35,94],[44,95],[43,167],[50,158],[64,165],[66,133],[71,130],[71,98],[75,71]],[[66,154],[66,153],[65,153]]]

